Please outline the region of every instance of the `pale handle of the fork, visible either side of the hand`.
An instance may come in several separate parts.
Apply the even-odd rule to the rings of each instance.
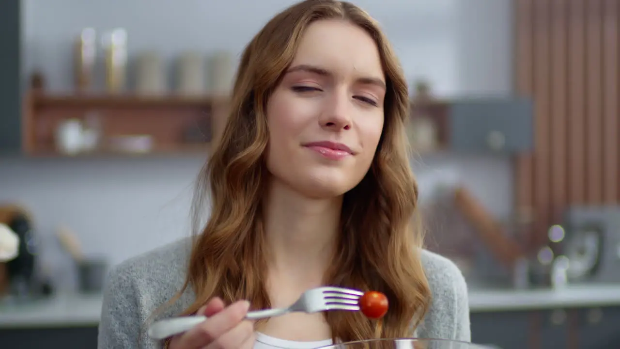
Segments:
[[[284,315],[290,312],[288,309],[265,309],[248,312],[246,319],[264,319],[265,317],[273,317]],[[201,324],[207,319],[203,315],[192,315],[184,317],[175,317],[173,319],[159,320],[149,327],[148,335],[155,340],[162,340],[179,333],[187,332],[194,326]]]

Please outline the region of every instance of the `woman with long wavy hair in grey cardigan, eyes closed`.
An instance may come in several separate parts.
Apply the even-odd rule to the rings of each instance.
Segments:
[[[407,84],[373,19],[335,0],[281,12],[246,47],[231,107],[198,181],[195,217],[209,187],[210,219],[191,242],[112,271],[100,349],[155,347],[153,314],[210,317],[172,349],[470,340],[462,274],[414,229]],[[328,284],[384,292],[390,309],[380,322],[345,311],[243,320]]]

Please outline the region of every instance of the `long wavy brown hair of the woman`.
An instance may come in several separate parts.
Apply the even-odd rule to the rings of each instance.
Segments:
[[[224,302],[248,299],[254,309],[270,307],[262,220],[262,197],[270,177],[265,166],[265,111],[308,25],[322,19],[346,20],[368,32],[378,47],[387,83],[383,134],[365,178],[344,194],[342,233],[324,282],[381,291],[390,304],[381,322],[357,312],[324,314],[339,340],[410,336],[427,310],[430,290],[420,261],[422,231],[414,217],[418,190],[404,136],[407,83],[377,22],[359,7],[335,0],[307,0],[289,7],[244,50],[228,122],[198,177],[195,222],[205,215],[206,202],[211,215],[195,237],[179,293],[191,287],[196,295],[184,314],[195,313],[215,296]]]

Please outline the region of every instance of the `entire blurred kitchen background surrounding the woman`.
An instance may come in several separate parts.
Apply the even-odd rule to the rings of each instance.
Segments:
[[[208,82],[191,78],[179,82],[179,75],[197,76],[187,71],[201,72],[204,67],[192,63],[209,60],[208,65],[215,64],[213,57],[223,57],[220,71],[236,65],[252,35],[293,2],[9,0],[0,4],[0,43],[9,52],[0,57],[0,206],[20,204],[29,212],[38,240],[38,273],[49,279],[50,297],[55,302],[9,302],[4,314],[0,305],[0,343],[7,340],[24,345],[30,340],[25,348],[38,348],[39,343],[49,347],[54,341],[40,338],[53,337],[72,338],[74,343],[83,340],[76,348],[92,347],[99,295],[91,290],[71,296],[78,299],[77,304],[66,300],[71,298],[67,295],[84,291],[74,268],[76,257],[68,253],[71,241],[79,242],[79,253],[86,260],[105,261],[110,266],[190,233],[193,179],[208,156],[206,150],[195,151],[201,149],[195,144],[179,147],[157,126],[152,126],[151,138],[133,135],[148,133],[151,126],[144,125],[146,122],[141,130],[141,122],[125,125],[115,121],[112,129],[121,136],[113,135],[116,138],[111,141],[123,150],[79,152],[72,133],[76,124],[64,119],[81,119],[87,114],[86,124],[91,127],[101,119],[105,123],[106,112],[115,110],[125,116],[133,112],[136,120],[141,120],[139,113],[152,111],[159,113],[154,119],[165,124],[161,120],[167,116],[161,110],[177,111],[183,114],[180,119],[194,120],[197,110],[208,109],[208,117],[214,120],[207,128],[216,142],[216,117],[225,114],[220,95],[225,94],[227,75],[218,79],[205,71],[202,76]],[[613,258],[613,253],[612,257],[607,257],[609,253],[597,257],[604,260],[596,264],[604,273],[577,278],[577,286],[572,282],[565,285],[570,275],[566,268],[562,273],[560,262],[564,259],[557,258],[571,251],[562,250],[560,243],[568,233],[562,227],[564,216],[558,213],[569,207],[563,199],[575,197],[567,184],[575,175],[569,178],[566,173],[583,172],[583,183],[587,183],[582,185],[583,200],[571,199],[570,203],[591,204],[570,217],[588,217],[588,222],[595,217],[596,227],[607,228],[601,234],[612,249],[613,242],[620,240],[618,209],[599,209],[601,204],[616,204],[620,199],[620,168],[614,160],[620,153],[620,130],[613,121],[618,119],[618,105],[613,102],[618,98],[618,82],[601,78],[620,77],[617,63],[609,63],[618,61],[618,45],[610,42],[618,41],[620,4],[615,0],[572,0],[574,9],[569,11],[565,1],[559,0],[536,4],[532,0],[353,2],[381,22],[396,48],[411,83],[412,99],[418,102],[413,114],[420,121],[415,125],[418,129],[428,127],[424,122],[427,117],[437,121],[433,127],[441,151],[421,152],[412,159],[412,166],[428,210],[429,248],[453,258],[468,279],[474,342],[504,349],[620,347],[620,274],[608,273],[618,266],[620,257]],[[589,4],[595,2],[598,7],[592,6],[592,10]],[[578,16],[574,14],[579,11],[587,14],[580,17],[581,22],[570,17]],[[587,25],[583,24],[585,18]],[[558,21],[560,34],[547,35],[549,23]],[[583,32],[582,41],[570,40],[584,43],[580,48],[571,46],[572,51],[567,44],[573,35],[571,25],[586,28],[578,30]],[[590,27],[595,29],[588,31]],[[82,52],[86,52],[89,28],[96,35],[97,58],[92,75],[83,74],[76,83],[76,39],[82,34]],[[126,90],[130,92],[125,93],[116,91],[120,86],[116,83],[122,79],[115,80],[124,74],[115,75],[105,68],[109,43],[99,42],[111,38],[110,30],[115,29],[122,29],[116,32],[117,39],[126,34],[126,47],[120,44],[114,48],[119,57],[125,48],[128,55]],[[553,53],[556,42],[560,42],[560,54]],[[598,42],[598,46],[589,42]],[[615,55],[608,54],[610,45]],[[583,58],[586,50],[600,53]],[[574,52],[581,55],[581,65],[572,66],[568,78],[565,73],[558,75],[564,79],[552,78],[556,65],[549,62],[568,71],[570,59],[560,56],[577,57]],[[185,75],[177,68],[179,57],[185,59]],[[541,65],[540,61],[547,63]],[[157,78],[153,66],[162,67],[165,73]],[[581,72],[582,80],[575,80],[575,71]],[[598,77],[592,80],[594,75]],[[92,81],[88,76],[94,77]],[[573,90],[577,85],[581,89]],[[95,93],[91,96],[95,97],[76,93],[80,86],[92,86]],[[167,93],[132,97],[131,91],[157,94],[162,86],[184,89],[192,96],[185,100],[167,97]],[[430,89],[430,97],[424,86]],[[114,90],[115,96],[105,97],[106,89],[108,93]],[[569,96],[569,89],[600,95],[601,102],[594,107],[591,97],[558,102],[554,91]],[[582,104],[569,104],[579,100]],[[595,128],[603,134],[575,134],[568,126],[574,109],[598,120]],[[566,119],[562,119],[564,114]],[[583,128],[583,119],[581,122]],[[558,129],[562,130],[559,136],[554,131]],[[62,139],[54,142],[55,135]],[[412,137],[426,140],[415,132]],[[582,163],[566,160],[569,151],[575,154],[569,138],[581,145],[586,139],[595,142],[597,137],[601,140],[598,148],[584,145],[587,150],[577,149]],[[158,140],[167,143],[159,147]],[[588,160],[585,153],[595,161]],[[556,166],[558,154],[565,160]],[[542,171],[542,167],[551,170]],[[598,184],[590,184],[593,176],[599,179]],[[560,189],[554,189],[554,181],[560,183]],[[604,201],[606,191],[614,194]],[[546,196],[540,194],[547,192]],[[590,238],[583,236],[582,240]],[[579,239],[574,240],[581,245],[573,245],[592,246]],[[53,314],[40,315],[42,312]],[[31,331],[38,331],[38,336],[32,336]]]

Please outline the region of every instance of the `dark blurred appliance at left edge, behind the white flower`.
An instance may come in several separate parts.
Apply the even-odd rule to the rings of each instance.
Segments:
[[[19,237],[19,255],[4,263],[9,289],[17,296],[30,294],[35,281],[37,239],[30,215],[19,206],[0,206],[0,222],[6,224]]]

